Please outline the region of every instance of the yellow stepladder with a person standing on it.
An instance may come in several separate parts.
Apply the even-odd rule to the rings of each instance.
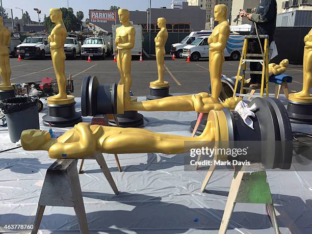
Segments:
[[[248,44],[250,40],[255,40],[261,46],[263,54],[248,54]],[[262,46],[262,42],[258,40],[264,40],[264,46]],[[262,71],[251,71],[247,70],[247,63],[261,63]],[[266,91],[266,96],[269,97],[269,36],[268,35],[246,35],[241,55],[241,60],[239,63],[239,68],[237,72],[237,78],[234,88],[235,96],[248,96],[248,99],[251,99],[253,94],[255,93],[256,89],[244,87],[246,74],[261,74],[261,88],[260,88],[260,96],[264,96],[264,91]],[[247,78],[248,79],[248,78]],[[241,89],[238,93],[238,83],[241,82]],[[249,94],[246,94],[244,90],[250,90]]]

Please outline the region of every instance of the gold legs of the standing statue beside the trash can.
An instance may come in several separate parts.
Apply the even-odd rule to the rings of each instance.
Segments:
[[[59,94],[55,95],[55,99],[66,99],[66,75],[65,75],[65,53],[64,51],[54,51],[52,62],[55,75],[58,81]]]

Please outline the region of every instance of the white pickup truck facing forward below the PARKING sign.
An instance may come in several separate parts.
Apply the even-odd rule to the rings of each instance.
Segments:
[[[81,46],[81,59],[84,60],[90,57],[100,57],[105,59],[107,54],[107,43],[104,38],[89,37]]]

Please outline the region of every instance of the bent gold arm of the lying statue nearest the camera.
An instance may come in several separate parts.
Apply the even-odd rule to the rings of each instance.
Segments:
[[[74,143],[55,143],[49,148],[50,158],[62,158],[62,154],[66,154],[66,158],[84,157],[97,150],[97,139],[93,139],[88,123],[79,123],[74,128],[74,131],[79,134],[80,141]]]

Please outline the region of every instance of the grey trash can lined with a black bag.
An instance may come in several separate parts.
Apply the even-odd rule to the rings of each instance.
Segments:
[[[16,143],[26,129],[40,129],[38,98],[12,97],[2,100],[0,108],[6,116],[10,140]]]

